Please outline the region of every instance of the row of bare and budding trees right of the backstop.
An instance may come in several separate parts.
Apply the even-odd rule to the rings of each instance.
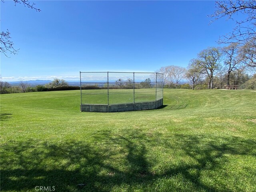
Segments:
[[[200,51],[196,58],[192,58],[187,68],[181,66],[164,66],[156,72],[164,74],[166,88],[179,87],[181,80],[189,80],[192,89],[198,85],[201,88],[222,88],[223,85],[242,85],[252,79],[250,86],[242,88],[256,88],[253,82],[253,72],[256,62],[252,53],[248,54],[246,45],[231,43],[225,47],[208,47]],[[250,55],[250,56],[249,56]]]

